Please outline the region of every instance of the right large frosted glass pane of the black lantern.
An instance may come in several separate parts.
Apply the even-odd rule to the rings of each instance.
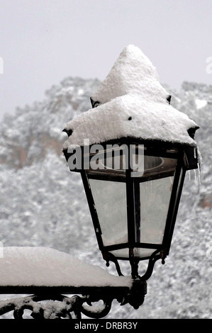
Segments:
[[[173,179],[140,183],[140,242],[162,244]]]

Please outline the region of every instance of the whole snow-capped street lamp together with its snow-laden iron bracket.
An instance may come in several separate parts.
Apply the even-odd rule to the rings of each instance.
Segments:
[[[106,265],[116,265],[118,276],[119,262],[128,261],[131,277],[103,270],[99,278],[98,269],[84,271],[84,264],[50,249],[9,248],[0,293],[34,295],[0,302],[0,315],[13,310],[21,319],[28,309],[35,319],[101,318],[114,299],[135,309],[143,304],[155,262],[164,264],[169,255],[186,171],[199,169],[201,161],[194,140],[198,125],[170,101],[150,60],[129,45],[91,96],[92,108],[65,127],[63,152],[70,171],[82,176],[102,256]],[[140,261],[147,261],[141,276]],[[88,271],[90,279],[79,281]],[[43,300],[49,300],[46,306]],[[91,303],[99,300],[104,307],[96,310]]]

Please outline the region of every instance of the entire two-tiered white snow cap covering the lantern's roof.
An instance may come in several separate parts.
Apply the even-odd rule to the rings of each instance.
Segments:
[[[170,105],[170,95],[160,84],[157,70],[134,45],[123,49],[96,94],[93,106],[67,123],[69,135],[63,149],[134,137],[177,142],[196,147],[199,128],[187,115]]]

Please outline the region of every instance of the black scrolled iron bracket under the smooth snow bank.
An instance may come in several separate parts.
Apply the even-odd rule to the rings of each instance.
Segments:
[[[74,289],[81,295],[62,295],[56,293],[56,290],[55,293],[48,293],[48,288],[44,287],[40,295],[34,294],[1,300],[0,316],[13,311],[14,319],[20,320],[25,318],[25,310],[29,310],[30,317],[36,320],[81,319],[82,315],[90,318],[102,318],[110,312],[113,300],[118,300],[121,305],[128,303],[138,309],[143,304],[147,293],[145,281],[140,280],[133,281],[130,288],[84,287],[84,290],[81,288],[78,291],[76,288]]]

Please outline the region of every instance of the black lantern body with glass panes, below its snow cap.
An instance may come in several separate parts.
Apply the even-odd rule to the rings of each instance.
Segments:
[[[133,278],[146,281],[155,261],[169,254],[186,170],[199,165],[197,148],[123,137],[80,149],[64,154],[82,175],[103,258],[119,275],[118,260],[130,261]],[[149,265],[140,277],[143,260]]]

